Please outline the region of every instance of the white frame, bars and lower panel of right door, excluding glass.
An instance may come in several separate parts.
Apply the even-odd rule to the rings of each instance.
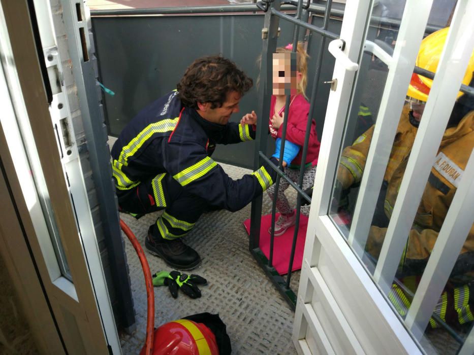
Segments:
[[[447,50],[439,63],[438,75],[433,82],[424,120],[419,127],[373,278],[369,276],[358,257],[362,256],[365,245],[364,238],[360,237],[368,235],[378,196],[377,189],[368,187],[382,184],[389,153],[384,154],[387,149],[381,148],[386,148],[387,142],[392,142],[395,136],[431,5],[431,0],[407,0],[394,53],[391,58],[385,56],[385,60],[390,61],[387,63],[389,74],[353,223],[346,240],[328,216],[328,211],[346,116],[357,82],[354,72],[347,70],[347,58],[355,63],[361,60],[372,2],[353,0],[346,4],[340,35],[345,41],[345,59],[341,60],[336,56],[333,78],[337,79],[337,87],[331,92],[328,101],[298,290],[293,341],[299,353],[421,353],[418,340],[423,335],[434,304],[448,277],[443,280],[442,277],[433,275],[436,271],[439,275],[441,268],[444,271],[451,270],[449,265],[454,265],[467,235],[468,229],[464,233],[464,225],[467,225],[467,228],[472,225],[472,220],[462,224],[459,220],[457,223],[450,223],[444,234],[440,233],[439,242],[435,246],[439,253],[433,257],[433,261],[430,259],[431,266],[427,267],[426,275],[422,278],[426,286],[417,291],[414,298],[417,302],[414,302],[413,309],[410,308],[410,316],[407,316],[405,323],[385,296],[390,290],[406,241],[406,238],[395,236],[408,235],[411,224],[406,221],[412,218],[413,222],[467,60],[472,53],[474,36],[471,35],[468,39],[465,35],[474,32],[472,19],[466,16],[474,12],[472,1],[460,0],[457,4],[445,47]],[[454,52],[456,54],[453,54]],[[342,54],[339,53],[339,56]],[[415,175],[416,164],[418,170]],[[457,221],[454,216],[459,215],[461,208],[470,205],[469,201],[474,198],[471,181],[464,180],[462,190],[461,186],[458,190],[456,201],[459,203],[453,201],[453,210],[450,210],[454,222]],[[468,198],[465,198],[466,194]],[[454,229],[455,226],[458,229]],[[464,228],[463,231],[459,232],[459,226]],[[451,237],[453,230],[456,230],[456,235],[462,235]],[[447,245],[447,239],[450,239],[453,245],[454,239],[459,239],[456,240],[459,250],[456,252],[456,247],[450,245],[449,253],[445,253],[446,256],[443,257],[443,250],[447,250],[444,247]],[[449,275],[449,272],[444,274]],[[430,290],[430,293],[426,293],[427,290]]]

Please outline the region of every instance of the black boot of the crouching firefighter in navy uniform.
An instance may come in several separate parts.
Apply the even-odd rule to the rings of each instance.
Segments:
[[[152,233],[154,225],[148,229],[145,246],[151,254],[162,258],[169,266],[179,270],[191,270],[201,264],[201,257],[191,246],[187,246],[182,238],[164,239],[158,233]]]

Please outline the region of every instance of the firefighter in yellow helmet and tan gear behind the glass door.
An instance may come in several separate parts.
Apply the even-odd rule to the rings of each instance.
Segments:
[[[417,66],[431,72],[436,72],[448,29],[438,30],[422,41],[417,57]],[[463,84],[473,85],[473,71],[474,53],[469,60]],[[413,74],[410,81],[406,97],[407,103],[402,110],[390,159],[385,171],[383,186],[365,246],[366,252],[375,259],[380,255],[393,206],[431,85],[432,80],[417,74]],[[419,280],[423,274],[461,180],[467,160],[474,147],[473,103],[474,99],[472,97],[462,92],[458,93],[447,129],[431,168],[428,183],[415,216],[414,225],[408,235],[405,250],[397,271],[398,278],[415,277],[415,279]],[[340,189],[349,189],[361,181],[373,131],[374,127],[372,126],[357,138],[351,147],[346,147],[343,150],[337,171],[337,185],[339,185]],[[459,325],[474,319],[469,306],[469,304],[474,305],[474,302],[472,302],[474,297],[469,292],[471,288],[474,290],[471,282],[473,270],[474,226],[470,229],[447,286],[447,289],[453,291],[454,295],[457,292],[457,299],[463,302],[457,302],[456,296],[454,298],[451,296],[444,297],[447,302],[451,300],[448,302],[448,305],[451,306],[450,310],[452,313],[459,315],[456,318],[456,322],[453,321],[455,317],[448,319],[450,323],[454,322]],[[460,295],[459,292],[463,294]],[[444,304],[444,309],[446,318],[446,304]],[[443,320],[446,321],[446,319]]]

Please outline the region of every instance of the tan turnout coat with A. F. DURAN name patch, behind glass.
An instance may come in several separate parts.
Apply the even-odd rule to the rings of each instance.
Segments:
[[[384,212],[389,219],[392,215],[393,206],[417,132],[417,128],[410,124],[408,114],[409,106],[405,105],[384,177],[388,184]],[[372,126],[356,139],[351,147],[346,147],[343,150],[337,171],[337,179],[343,189],[360,182],[373,131],[374,127]],[[462,118],[456,127],[448,128],[441,140],[401,260],[400,266],[405,268],[404,274],[416,273],[417,270],[415,269],[424,267],[446,218],[473,147],[474,111],[471,111]],[[380,254],[385,232],[386,228],[372,226],[370,229],[366,250],[376,258]],[[459,257],[459,259],[466,260],[457,263],[457,266],[461,269],[470,269],[474,263],[472,260],[474,259],[472,257],[473,251],[474,226],[470,229]],[[417,261],[422,260],[423,263],[417,263]],[[419,264],[418,267],[417,264]],[[413,267],[414,270],[406,270],[410,267]],[[465,271],[467,270],[457,270],[456,273],[459,274]]]

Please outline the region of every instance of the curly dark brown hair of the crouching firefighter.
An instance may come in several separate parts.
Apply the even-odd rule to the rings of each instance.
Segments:
[[[226,101],[228,92],[243,95],[252,85],[252,80],[234,62],[211,56],[196,59],[189,65],[177,89],[185,107],[198,109],[198,102],[210,102],[211,109],[215,109]]]

